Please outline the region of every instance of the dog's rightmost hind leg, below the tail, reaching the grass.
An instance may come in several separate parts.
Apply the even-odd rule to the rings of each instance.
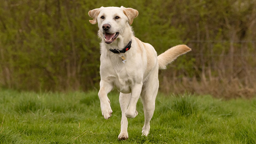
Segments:
[[[155,75],[156,74],[156,75]],[[157,73],[152,73],[151,77],[147,80],[142,88],[141,100],[144,109],[145,123],[142,128],[142,135],[148,136],[150,130],[150,120],[155,110],[155,98],[159,87],[158,70]]]

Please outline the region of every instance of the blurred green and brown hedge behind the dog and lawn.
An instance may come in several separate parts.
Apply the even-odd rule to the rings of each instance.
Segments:
[[[137,9],[135,36],[158,54],[192,48],[159,71],[159,91],[256,95],[256,0],[1,0],[0,87],[99,89],[100,39],[88,11],[101,6]]]

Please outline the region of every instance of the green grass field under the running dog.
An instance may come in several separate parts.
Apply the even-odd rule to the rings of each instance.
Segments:
[[[159,93],[148,137],[139,100],[129,119],[129,139],[119,141],[118,93],[109,99],[112,117],[101,115],[97,91],[34,93],[0,89],[1,144],[167,143],[255,144],[256,99],[220,100],[211,96]]]

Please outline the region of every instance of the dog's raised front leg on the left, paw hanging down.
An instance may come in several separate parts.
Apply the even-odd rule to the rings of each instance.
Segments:
[[[104,119],[109,119],[112,114],[112,109],[110,107],[110,100],[107,97],[107,94],[112,90],[113,84],[107,81],[101,80],[100,82],[100,91],[98,96],[101,102],[101,112],[104,116]]]

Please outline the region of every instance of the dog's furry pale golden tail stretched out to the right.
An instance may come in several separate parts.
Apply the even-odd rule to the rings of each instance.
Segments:
[[[157,56],[159,69],[166,69],[166,66],[169,63],[175,60],[178,56],[185,54],[189,51],[191,51],[191,49],[184,44],[176,45],[172,48],[169,48],[167,51]]]

